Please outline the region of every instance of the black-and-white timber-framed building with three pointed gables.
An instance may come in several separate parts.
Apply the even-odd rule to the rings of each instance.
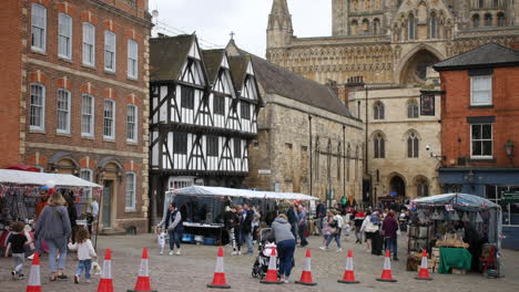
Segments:
[[[200,50],[195,35],[151,40],[152,194],[162,210],[167,189],[238,188],[261,105],[254,70],[224,50]]]

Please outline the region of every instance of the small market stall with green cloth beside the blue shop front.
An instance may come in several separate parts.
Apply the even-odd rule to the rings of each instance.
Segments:
[[[472,195],[444,194],[411,200],[408,207],[408,260],[426,249],[429,265],[439,273],[499,269],[499,205]]]

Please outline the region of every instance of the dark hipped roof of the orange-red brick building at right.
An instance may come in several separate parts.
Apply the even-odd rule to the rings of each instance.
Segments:
[[[432,67],[436,71],[476,67],[518,66],[519,51],[497,43],[487,43],[462,54],[449,58]]]

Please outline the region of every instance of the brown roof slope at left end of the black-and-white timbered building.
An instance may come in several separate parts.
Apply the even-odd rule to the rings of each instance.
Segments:
[[[150,40],[150,80],[177,80],[195,42],[194,34]]]

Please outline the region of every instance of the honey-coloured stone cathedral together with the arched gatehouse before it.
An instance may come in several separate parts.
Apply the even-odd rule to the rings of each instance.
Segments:
[[[266,41],[271,62],[335,84],[365,122],[365,200],[404,200],[449,191],[438,180],[440,95],[430,65],[487,42],[519,43],[519,1],[332,0],[332,35],[297,38],[287,0],[273,0]]]

